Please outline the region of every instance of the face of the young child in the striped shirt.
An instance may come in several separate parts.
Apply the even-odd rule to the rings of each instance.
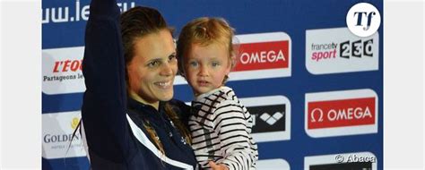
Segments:
[[[226,47],[212,43],[192,46],[185,58],[186,80],[195,96],[221,87],[230,72],[230,56]]]

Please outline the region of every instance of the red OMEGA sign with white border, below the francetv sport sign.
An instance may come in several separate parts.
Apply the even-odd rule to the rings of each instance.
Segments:
[[[377,115],[372,89],[306,94],[305,130],[313,138],[376,133]]]

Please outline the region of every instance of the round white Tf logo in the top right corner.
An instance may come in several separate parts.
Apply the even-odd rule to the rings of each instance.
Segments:
[[[354,4],[346,16],[347,27],[359,37],[369,37],[379,28],[381,15],[377,8],[368,3]]]

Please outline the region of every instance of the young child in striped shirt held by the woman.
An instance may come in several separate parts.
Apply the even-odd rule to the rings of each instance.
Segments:
[[[201,168],[256,168],[253,117],[224,86],[235,64],[233,34],[223,19],[204,17],[187,23],[178,38],[178,69],[195,94],[188,124]]]

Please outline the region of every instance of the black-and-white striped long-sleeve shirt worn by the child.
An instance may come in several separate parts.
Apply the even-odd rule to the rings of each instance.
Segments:
[[[230,169],[256,169],[258,151],[250,135],[253,117],[229,87],[214,89],[192,101],[189,118],[192,148],[199,165],[225,164]]]

